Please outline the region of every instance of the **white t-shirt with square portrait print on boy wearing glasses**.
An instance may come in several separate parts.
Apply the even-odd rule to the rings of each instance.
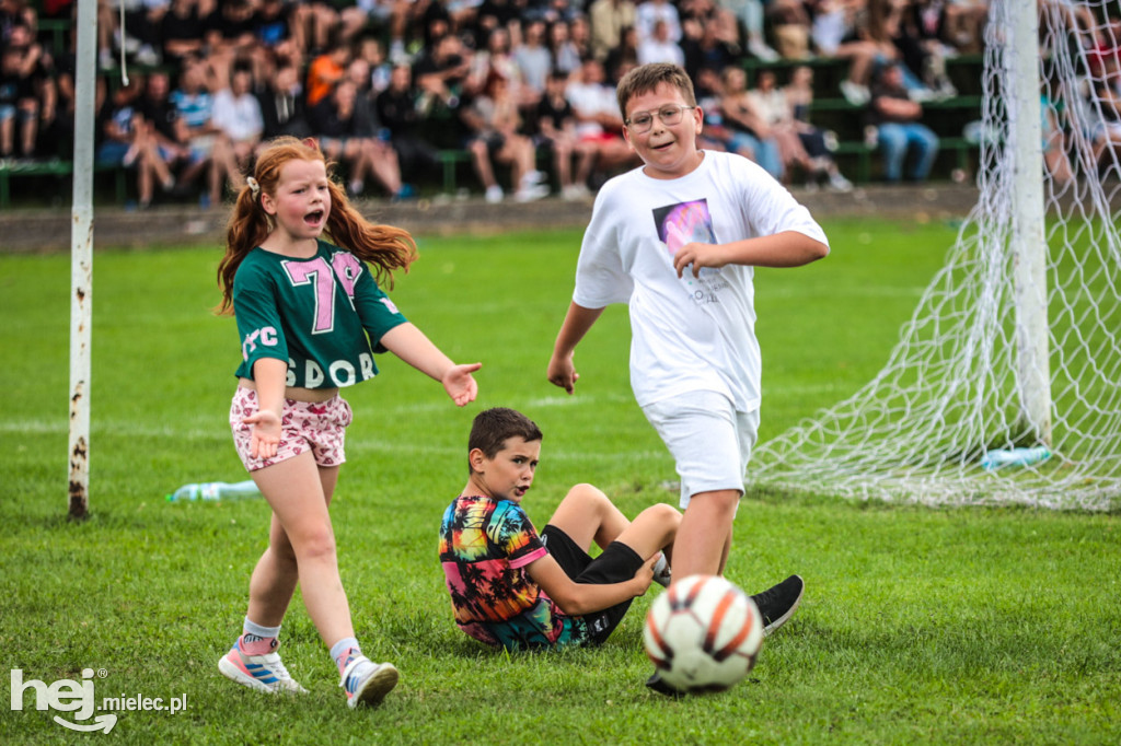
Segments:
[[[639,405],[689,391],[716,391],[735,409],[759,408],[754,270],[692,268],[673,255],[697,241],[726,243],[797,231],[827,243],[809,211],[742,156],[704,151],[693,172],[655,179],[642,168],[600,189],[576,264],[573,301],[626,302],[631,320],[631,389]]]

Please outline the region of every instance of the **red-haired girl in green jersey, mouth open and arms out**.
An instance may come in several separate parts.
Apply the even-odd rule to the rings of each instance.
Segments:
[[[274,140],[238,195],[219,264],[219,310],[235,316],[242,353],[230,426],[272,509],[243,634],[219,669],[259,691],[305,691],[276,652],[299,581],[355,707],[380,702],[398,673],[362,655],[339,577],[327,506],[351,421],[339,389],[373,377],[374,351],[388,349],[462,407],[478,393],[471,374],[481,364],[453,363],[382,292],[379,282],[392,287],[416,244],[406,231],[367,222],[331,176],[314,141]]]

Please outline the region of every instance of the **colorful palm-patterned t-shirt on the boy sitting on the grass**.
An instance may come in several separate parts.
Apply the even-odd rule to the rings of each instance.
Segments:
[[[526,571],[545,553],[518,503],[480,496],[452,501],[439,529],[439,561],[460,628],[508,650],[584,642],[583,617],[562,613]]]

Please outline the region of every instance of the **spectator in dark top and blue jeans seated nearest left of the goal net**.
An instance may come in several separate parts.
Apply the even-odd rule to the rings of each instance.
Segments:
[[[880,71],[872,85],[869,114],[883,153],[884,179],[899,181],[908,153],[914,151],[907,177],[925,181],[938,155],[938,136],[921,122],[923,104],[910,97],[900,64],[887,65]]]

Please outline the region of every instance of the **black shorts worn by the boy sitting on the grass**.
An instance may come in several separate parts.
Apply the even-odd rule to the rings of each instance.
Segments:
[[[553,524],[541,531],[541,543],[557,565],[575,582],[597,586],[626,582],[642,567],[642,558],[621,541],[612,541],[596,558],[585,552],[567,533]],[[631,599],[615,604],[600,612],[584,614],[589,640],[600,644],[619,626],[630,608]]]

